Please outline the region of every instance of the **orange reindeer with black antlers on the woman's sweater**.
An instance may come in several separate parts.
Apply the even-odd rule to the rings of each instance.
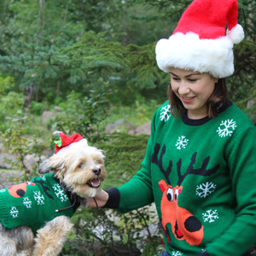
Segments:
[[[159,186],[163,193],[161,199],[161,215],[160,219],[162,228],[165,232],[165,235],[168,239],[168,242],[171,242],[170,239],[170,231],[167,228],[167,224],[172,225],[172,233],[177,238],[177,240],[185,240],[190,245],[199,245],[204,236],[204,227],[201,224],[201,221],[196,218],[191,212],[187,209],[178,206],[178,196],[181,194],[183,190],[183,180],[189,174],[202,175],[202,176],[210,176],[213,173],[217,172],[219,169],[219,165],[212,167],[212,169],[207,170],[207,166],[210,160],[208,156],[201,165],[201,168],[194,169],[196,152],[192,155],[191,162],[187,171],[182,175],[181,174],[181,166],[182,160],[178,160],[177,162],[177,176],[178,182],[175,187],[172,186],[171,181],[169,179],[169,175],[172,172],[172,160],[169,160],[169,166],[165,171],[163,168],[163,155],[166,153],[166,145],[163,146],[160,154],[160,159],[158,160],[157,155],[160,152],[160,144],[156,143],[154,146],[154,154],[152,155],[152,163],[156,164],[160,168],[160,172],[164,174],[166,177],[165,180],[160,180]]]

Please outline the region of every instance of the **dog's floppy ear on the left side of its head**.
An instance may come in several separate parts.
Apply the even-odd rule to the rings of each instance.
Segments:
[[[42,174],[47,173],[51,170],[54,172],[65,172],[65,161],[63,160],[63,157],[61,155],[54,154],[49,158],[49,160],[44,160],[38,168],[38,172]]]

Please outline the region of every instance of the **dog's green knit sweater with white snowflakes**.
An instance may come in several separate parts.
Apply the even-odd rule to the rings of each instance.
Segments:
[[[46,221],[61,215],[71,218],[73,208],[55,212],[70,206],[67,194],[53,174],[33,177],[31,182],[0,189],[0,220],[6,229],[29,226],[36,235]]]

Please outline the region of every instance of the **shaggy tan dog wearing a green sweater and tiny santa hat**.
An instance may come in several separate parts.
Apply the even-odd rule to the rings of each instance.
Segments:
[[[3,256],[18,251],[24,256],[58,255],[73,227],[71,216],[80,205],[86,207],[86,198],[94,197],[106,178],[102,150],[88,146],[79,134],[60,135],[61,150],[39,166],[43,178],[0,189]]]

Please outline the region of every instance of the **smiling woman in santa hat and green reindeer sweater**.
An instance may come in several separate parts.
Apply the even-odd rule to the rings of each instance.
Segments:
[[[119,212],[154,201],[162,256],[247,256],[256,240],[256,129],[228,100],[224,80],[242,38],[236,0],[189,5],[156,45],[158,66],[171,74],[170,101],[154,113],[142,169],[96,195],[101,207]]]

